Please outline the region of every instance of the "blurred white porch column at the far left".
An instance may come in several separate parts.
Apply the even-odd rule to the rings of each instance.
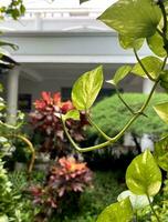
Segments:
[[[7,122],[13,125],[17,121],[19,73],[18,67],[10,70],[7,82]]]

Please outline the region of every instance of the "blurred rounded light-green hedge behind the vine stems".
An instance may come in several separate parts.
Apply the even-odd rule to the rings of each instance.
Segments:
[[[124,93],[123,98],[134,110],[137,111],[146,100],[147,95],[143,93]],[[129,132],[137,135],[141,135],[143,133],[160,135],[164,131],[167,131],[167,125],[159,119],[153,109],[154,104],[165,101],[168,101],[167,94],[156,93],[145,111],[148,117],[146,118],[141,115],[129,128]],[[97,102],[92,109],[92,118],[94,122],[111,137],[119,132],[130,117],[132,113],[120,102],[116,94]],[[93,128],[88,128],[87,133],[90,138],[97,135],[97,131]]]

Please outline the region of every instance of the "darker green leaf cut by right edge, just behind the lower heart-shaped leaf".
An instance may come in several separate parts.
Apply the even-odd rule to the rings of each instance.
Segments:
[[[154,157],[158,165],[168,171],[168,135],[155,143]]]

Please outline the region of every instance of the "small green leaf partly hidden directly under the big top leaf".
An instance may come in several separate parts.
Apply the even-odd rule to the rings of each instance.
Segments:
[[[144,43],[144,39],[134,39],[132,37],[122,36],[122,34],[118,34],[118,40],[119,40],[120,47],[124,49],[134,48],[136,50],[139,50]]]

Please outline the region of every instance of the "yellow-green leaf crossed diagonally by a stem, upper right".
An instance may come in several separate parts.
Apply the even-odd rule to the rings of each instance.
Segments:
[[[150,74],[150,77],[153,77],[154,79],[157,79],[157,77],[159,75],[161,71],[162,61],[156,57],[145,57],[140,61],[144,64],[145,69]],[[146,77],[146,73],[141,69],[139,62],[134,65],[132,72],[140,77]]]

